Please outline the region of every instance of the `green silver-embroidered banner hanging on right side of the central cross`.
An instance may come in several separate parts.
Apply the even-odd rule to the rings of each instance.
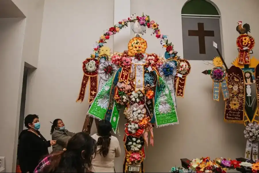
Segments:
[[[171,92],[162,77],[158,76],[158,81],[159,87],[154,111],[157,127],[178,124]]]

